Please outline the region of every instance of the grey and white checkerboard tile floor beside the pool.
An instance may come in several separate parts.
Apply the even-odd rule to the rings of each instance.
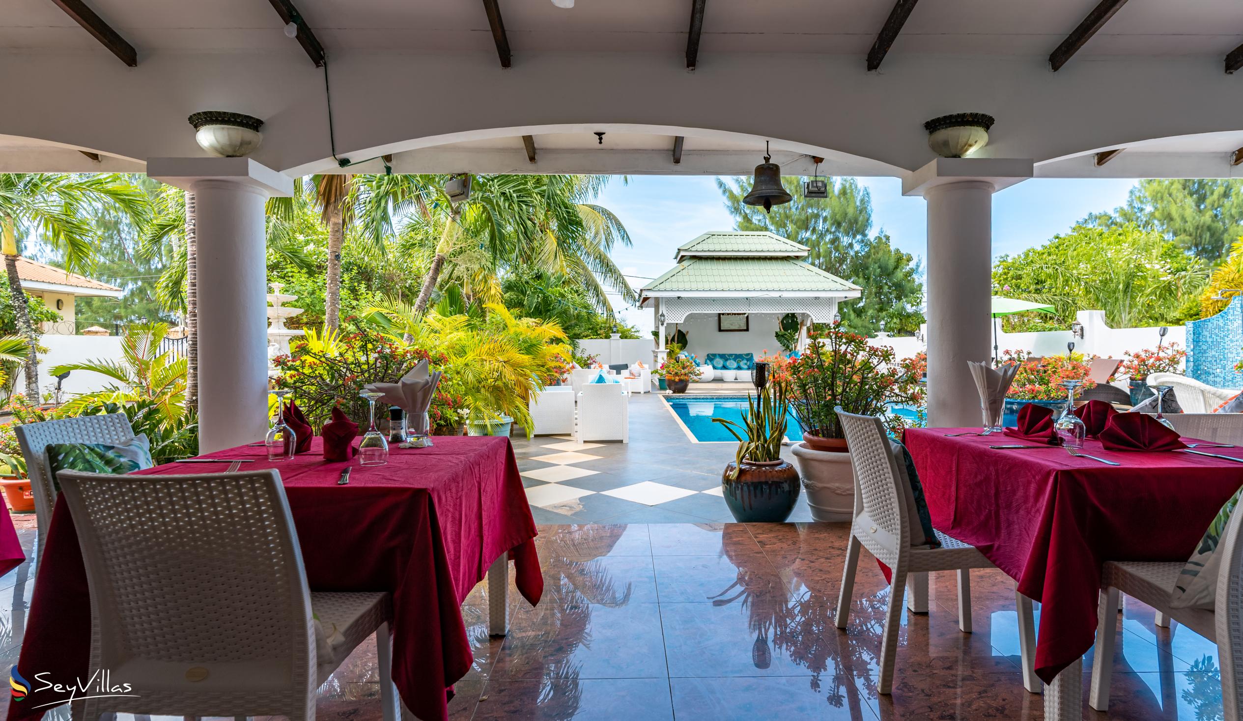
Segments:
[[[567,436],[513,439],[537,523],[702,523],[732,521],[721,471],[732,443],[696,444],[660,397],[630,398],[630,443]],[[800,498],[791,521],[809,521]]]

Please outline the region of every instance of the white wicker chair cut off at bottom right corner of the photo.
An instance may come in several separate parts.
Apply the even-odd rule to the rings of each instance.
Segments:
[[[1101,594],[1098,609],[1096,645],[1093,651],[1091,691],[1088,705],[1098,711],[1109,710],[1109,684],[1112,675],[1114,643],[1117,630],[1119,593],[1146,603],[1157,613],[1172,618],[1206,639],[1217,643],[1222,676],[1222,710],[1226,721],[1239,720],[1239,699],[1243,696],[1243,548],[1239,547],[1239,523],[1243,513],[1236,511],[1226,528],[1226,537],[1217,552],[1223,553],[1217,574],[1217,609],[1170,608],[1170,592],[1185,563],[1109,561],[1101,568]],[[1078,712],[1075,714],[1078,717]]]

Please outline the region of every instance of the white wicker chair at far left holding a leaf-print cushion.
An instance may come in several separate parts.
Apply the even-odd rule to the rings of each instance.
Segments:
[[[52,508],[56,507],[56,490],[45,474],[44,451],[53,443],[122,444],[134,438],[134,430],[129,426],[129,419],[124,413],[112,413],[15,425],[14,433],[17,435],[17,445],[21,446],[21,456],[26,459],[30,491],[35,496],[35,523],[39,527],[39,553],[35,563],[37,573],[39,561],[44,558],[47,526],[52,522]]]

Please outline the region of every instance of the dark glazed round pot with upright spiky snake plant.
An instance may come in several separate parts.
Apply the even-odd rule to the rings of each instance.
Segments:
[[[798,502],[798,471],[782,460],[789,405],[781,384],[767,384],[747,398],[742,423],[713,418],[738,440],[735,462],[725,466],[721,490],[735,520],[781,523]]]

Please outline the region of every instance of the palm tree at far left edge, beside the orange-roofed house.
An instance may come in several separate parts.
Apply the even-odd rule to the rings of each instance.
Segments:
[[[36,235],[65,257],[65,267],[88,272],[98,234],[91,214],[111,205],[137,224],[149,215],[147,194],[123,175],[60,173],[0,174],[0,252],[5,256],[9,293],[17,329],[26,339],[26,397],[39,400],[39,336],[30,322],[26,293],[17,276],[17,234]]]

